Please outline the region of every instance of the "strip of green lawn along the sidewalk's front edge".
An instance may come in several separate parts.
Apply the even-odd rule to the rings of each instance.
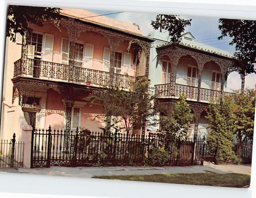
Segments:
[[[193,184],[204,186],[222,186],[242,188],[250,185],[251,176],[239,173],[180,173],[154,175],[117,175],[95,176],[93,178],[109,180],[148,181],[172,184]]]

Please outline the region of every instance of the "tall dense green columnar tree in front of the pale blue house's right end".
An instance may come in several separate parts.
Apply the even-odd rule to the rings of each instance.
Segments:
[[[206,117],[209,119],[209,134],[207,136],[209,150],[215,153],[217,144],[219,144],[220,161],[233,162],[236,160],[233,151],[236,132],[233,99],[230,96],[222,96],[221,103],[211,102]]]

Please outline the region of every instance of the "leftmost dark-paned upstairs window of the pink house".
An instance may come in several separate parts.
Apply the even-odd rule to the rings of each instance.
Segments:
[[[42,46],[43,46],[43,34],[31,33],[28,40],[28,45],[35,46],[35,59],[41,59]]]

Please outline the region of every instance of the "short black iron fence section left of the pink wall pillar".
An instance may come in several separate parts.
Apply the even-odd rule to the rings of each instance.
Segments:
[[[15,133],[10,141],[0,142],[0,167],[23,167],[24,142],[16,142]]]

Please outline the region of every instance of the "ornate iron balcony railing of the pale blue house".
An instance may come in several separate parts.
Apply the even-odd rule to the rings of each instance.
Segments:
[[[155,85],[156,93],[160,98],[179,97],[183,93],[187,99],[197,100],[198,87],[183,84],[157,84]],[[224,95],[234,95],[234,93],[223,92]],[[200,89],[200,101],[210,101],[220,99],[220,91],[211,89]]]

